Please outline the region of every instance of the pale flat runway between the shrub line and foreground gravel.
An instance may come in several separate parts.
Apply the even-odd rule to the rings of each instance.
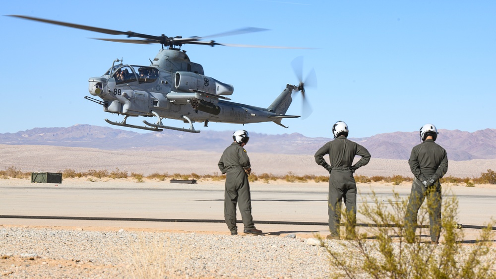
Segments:
[[[379,200],[392,198],[392,187],[359,184],[358,208],[372,191]],[[396,186],[400,197],[408,197],[410,186]],[[483,226],[495,218],[496,190],[454,186],[458,198],[459,223]],[[448,193],[443,188],[443,195]],[[258,229],[267,234],[328,234],[322,225],[257,224],[259,221],[327,222],[327,183],[251,184],[252,215]],[[68,226],[81,228],[137,228],[185,232],[229,233],[224,219],[224,183],[93,183],[0,184],[2,216],[68,216],[152,219],[208,219],[218,223],[108,221],[0,218],[0,224],[26,226]],[[358,215],[358,223],[368,221]],[[241,215],[238,213],[238,219]],[[242,231],[243,224],[238,225]],[[463,229],[466,240],[475,240],[479,230]]]

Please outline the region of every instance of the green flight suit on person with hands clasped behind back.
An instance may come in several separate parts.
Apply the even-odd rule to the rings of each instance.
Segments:
[[[446,150],[435,143],[433,139],[426,139],[413,147],[408,163],[415,178],[405,214],[406,240],[410,243],[414,241],[417,214],[427,196],[431,240],[438,242],[441,233],[441,184],[439,178],[448,171]],[[422,184],[422,182],[431,179],[434,180],[434,185],[425,187]]]

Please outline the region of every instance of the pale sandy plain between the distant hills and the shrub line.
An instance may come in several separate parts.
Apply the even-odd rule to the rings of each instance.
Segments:
[[[143,151],[103,150],[96,148],[59,147],[49,145],[0,144],[0,169],[14,166],[24,172],[61,172],[73,169],[83,172],[90,169],[120,170],[149,175],[152,173],[215,174],[221,153],[206,151]],[[286,155],[250,153],[253,173],[285,175],[327,175],[318,166],[313,155]],[[449,159],[449,156],[448,156]],[[496,159],[449,161],[446,176],[459,178],[479,177],[488,169],[496,169]],[[408,161],[372,158],[356,174],[366,176],[402,175],[412,177]]]

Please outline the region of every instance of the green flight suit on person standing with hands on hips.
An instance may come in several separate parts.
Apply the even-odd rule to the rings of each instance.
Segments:
[[[329,154],[328,164],[323,156]],[[361,156],[354,165],[356,155]],[[353,177],[354,170],[369,163],[371,154],[362,145],[346,139],[345,136],[329,141],[315,153],[315,162],[329,171],[329,231],[332,236],[339,237],[339,223],[341,221],[341,200],[344,200],[347,214],[351,217],[350,226],[347,226],[347,236],[354,233],[357,215],[357,184]]]

